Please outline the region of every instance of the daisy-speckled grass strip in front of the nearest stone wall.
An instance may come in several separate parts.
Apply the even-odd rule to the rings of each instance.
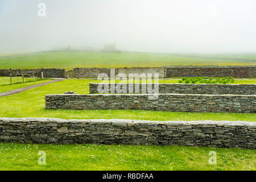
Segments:
[[[39,165],[39,151],[46,164]],[[209,164],[216,151],[217,164]],[[0,143],[0,170],[253,170],[255,151],[239,148]]]

